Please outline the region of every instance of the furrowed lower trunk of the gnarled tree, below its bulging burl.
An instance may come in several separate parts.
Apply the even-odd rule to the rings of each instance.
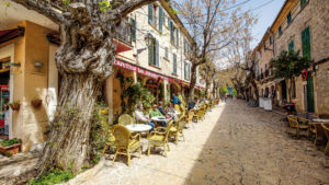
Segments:
[[[39,172],[52,167],[80,172],[89,159],[89,132],[92,111],[101,81],[89,74],[63,76],[59,102]]]

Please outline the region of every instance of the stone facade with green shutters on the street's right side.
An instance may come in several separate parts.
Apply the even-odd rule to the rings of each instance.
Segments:
[[[297,111],[318,116],[329,114],[329,1],[286,0],[270,27],[273,55],[282,50],[299,50],[313,60],[307,81],[275,79],[277,101],[283,96],[296,103]],[[326,80],[327,79],[327,80]],[[292,83],[292,85],[291,85]],[[292,86],[290,91],[290,86]],[[292,93],[292,100],[288,93]]]

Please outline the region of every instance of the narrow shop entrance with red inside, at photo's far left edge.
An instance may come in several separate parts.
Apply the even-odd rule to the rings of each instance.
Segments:
[[[10,94],[10,57],[0,58],[0,138],[9,138]]]

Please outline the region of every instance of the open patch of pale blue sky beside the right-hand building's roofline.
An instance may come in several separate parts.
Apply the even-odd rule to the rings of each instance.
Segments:
[[[237,0],[245,2],[246,0]],[[250,0],[242,5],[242,10],[252,10],[252,14],[258,19],[257,25],[252,27],[254,47],[260,42],[266,28],[272,25],[285,0]]]

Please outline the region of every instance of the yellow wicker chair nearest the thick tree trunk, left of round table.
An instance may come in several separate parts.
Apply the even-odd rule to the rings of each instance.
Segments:
[[[128,158],[128,166],[131,165],[131,152],[138,150],[139,158],[141,154],[140,151],[140,135],[136,134],[132,136],[129,130],[122,125],[114,126],[113,135],[115,137],[115,155],[113,162],[116,159],[117,154],[124,154]]]

